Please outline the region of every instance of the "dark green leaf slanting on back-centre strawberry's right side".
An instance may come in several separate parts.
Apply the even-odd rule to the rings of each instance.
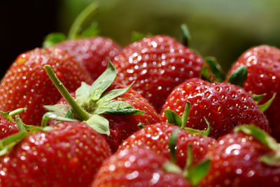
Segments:
[[[205,60],[205,62],[207,62],[207,64],[209,64],[209,67],[210,67],[212,73],[214,74],[216,81],[223,82],[225,80],[225,72],[223,71],[220,64],[218,64],[216,58],[215,57],[205,57],[204,60]]]

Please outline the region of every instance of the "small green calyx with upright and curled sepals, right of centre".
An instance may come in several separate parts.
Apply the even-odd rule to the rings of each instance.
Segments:
[[[183,130],[186,130],[187,132],[190,132],[191,134],[202,134],[204,136],[208,136],[210,133],[210,130],[211,130],[211,126],[210,126],[207,118],[205,118],[205,117],[204,117],[204,120],[206,121],[207,126],[208,126],[207,130],[196,130],[196,129],[193,129],[190,127],[186,127],[187,121],[188,121],[188,116],[190,114],[190,107],[191,107],[190,102],[187,102],[183,115],[182,115],[182,118],[174,111],[165,109],[165,116],[167,118],[167,122],[170,124],[179,126]]]

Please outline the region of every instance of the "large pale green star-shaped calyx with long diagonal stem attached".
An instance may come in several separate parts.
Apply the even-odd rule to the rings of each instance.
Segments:
[[[80,120],[87,123],[87,125],[100,134],[109,135],[109,120],[104,118],[102,114],[132,116],[144,113],[144,111],[135,109],[127,102],[112,101],[112,99],[127,92],[131,85],[127,88],[110,90],[104,93],[113,83],[117,74],[111,61],[109,61],[106,71],[104,71],[92,85],[87,85],[87,83],[81,84],[80,88],[76,90],[76,100],[71,97],[68,90],[66,90],[64,85],[59,81],[49,65],[45,66],[45,71],[55,84],[57,90],[59,90],[64,99],[66,99],[66,102],[70,105],[70,107],[63,104],[45,106],[45,109],[50,111],[48,116],[54,115],[56,118],[59,117],[60,120],[62,120],[62,118],[66,118],[66,120]],[[43,122],[43,124],[45,125],[46,123]]]

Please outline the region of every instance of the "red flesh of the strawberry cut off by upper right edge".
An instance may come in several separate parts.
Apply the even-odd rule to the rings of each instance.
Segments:
[[[244,90],[253,94],[266,94],[260,104],[267,102],[276,92],[276,97],[265,115],[272,128],[272,136],[280,141],[280,50],[272,46],[257,46],[246,50],[232,66],[228,78],[237,67],[246,65],[247,79]]]

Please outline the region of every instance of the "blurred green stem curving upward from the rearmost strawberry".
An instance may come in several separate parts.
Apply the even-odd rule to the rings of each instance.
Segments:
[[[98,8],[97,2],[94,2],[87,6],[74,20],[73,25],[69,29],[68,38],[69,39],[77,39],[78,33],[80,32],[80,29],[82,25],[85,23],[85,20],[90,17]]]

